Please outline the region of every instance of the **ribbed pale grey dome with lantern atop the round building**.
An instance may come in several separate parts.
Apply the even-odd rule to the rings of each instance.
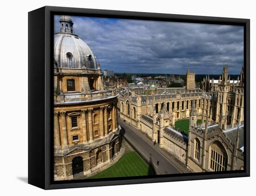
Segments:
[[[60,68],[97,69],[96,59],[89,46],[74,34],[70,16],[61,16],[60,32],[54,35],[54,60]]]

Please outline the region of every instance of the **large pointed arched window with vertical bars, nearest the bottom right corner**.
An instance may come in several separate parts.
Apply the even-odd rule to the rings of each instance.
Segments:
[[[209,147],[209,168],[213,171],[226,171],[228,155],[224,146],[219,142],[213,142]]]

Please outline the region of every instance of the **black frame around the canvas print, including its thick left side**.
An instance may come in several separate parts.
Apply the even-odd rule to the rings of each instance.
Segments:
[[[53,181],[53,35],[54,15],[146,19],[187,23],[244,26],[245,153],[243,171],[205,172],[154,177],[123,177],[92,180]],[[28,13],[28,183],[42,189],[63,189],[136,183],[201,180],[250,175],[250,20],[163,13],[141,13],[44,6]]]

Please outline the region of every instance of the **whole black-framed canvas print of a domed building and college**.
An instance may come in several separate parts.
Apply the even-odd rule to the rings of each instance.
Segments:
[[[28,13],[28,183],[249,176],[249,19]]]

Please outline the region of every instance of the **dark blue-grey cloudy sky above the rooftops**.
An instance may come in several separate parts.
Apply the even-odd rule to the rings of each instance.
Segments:
[[[54,31],[59,32],[60,16]],[[126,73],[240,74],[243,26],[205,25],[130,19],[72,17],[102,70]]]

